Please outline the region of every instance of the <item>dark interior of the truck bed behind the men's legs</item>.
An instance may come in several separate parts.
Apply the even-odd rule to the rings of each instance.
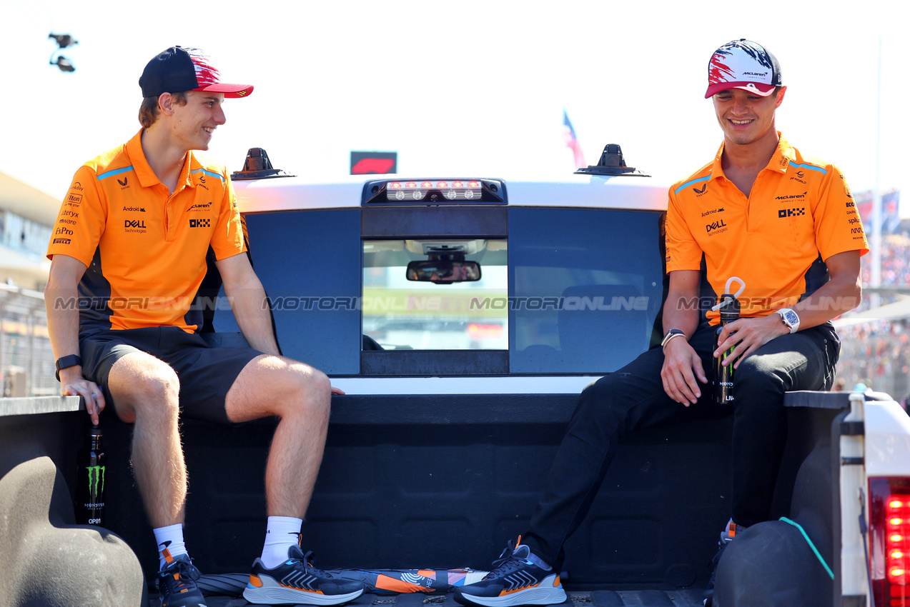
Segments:
[[[792,440],[775,493],[780,515],[789,513],[799,464],[819,443],[830,447],[832,420],[846,403],[846,394],[822,396],[830,398],[816,407],[799,393],[788,395],[788,402],[810,406],[791,411]],[[303,530],[315,564],[489,569],[505,542],[524,531],[576,398],[448,396],[428,407],[425,399],[407,396],[334,397]],[[85,413],[72,407],[18,413],[0,415],[0,473],[43,453],[56,464],[61,484],[66,480],[64,490],[75,486]],[[566,546],[562,578],[573,605],[702,604],[716,538],[729,516],[731,422],[721,417],[655,426],[621,443],[590,516]],[[135,552],[148,604],[157,607],[157,555],[128,463],[131,429],[112,417],[104,427],[106,528]],[[234,573],[242,583],[261,549],[263,468],[273,427],[269,420],[183,424],[190,474],[187,547],[204,574]],[[55,500],[52,509],[69,508],[72,517],[66,497],[56,494]],[[71,526],[72,518],[61,525]],[[836,571],[832,543],[819,546]],[[367,593],[351,604],[416,602],[457,604],[450,594],[423,593]],[[209,600],[212,607],[244,604],[228,596]]]

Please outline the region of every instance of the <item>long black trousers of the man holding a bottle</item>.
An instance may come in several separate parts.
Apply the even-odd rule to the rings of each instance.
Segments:
[[[690,340],[709,382],[714,332],[700,327]],[[834,327],[825,323],[765,343],[733,373],[734,522],[748,526],[767,519],[786,441],[784,393],[830,388],[839,353]],[[685,408],[663,391],[662,365],[663,352],[654,348],[581,393],[543,498],[521,538],[544,561],[561,566],[562,544],[591,508],[622,436],[677,416],[716,416],[710,383],[698,403]]]

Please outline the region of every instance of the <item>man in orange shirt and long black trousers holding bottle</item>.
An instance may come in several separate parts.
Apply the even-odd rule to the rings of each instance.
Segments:
[[[737,531],[769,516],[784,450],[784,393],[834,381],[840,342],[830,321],[859,303],[859,258],[868,252],[850,189],[834,165],[804,157],[774,128],[786,87],[762,45],[742,39],[718,48],[708,85],[723,144],[670,189],[662,348],[581,393],[521,545],[510,542],[493,572],[458,589],[462,604],[564,601],[562,545],[589,511],[618,439],[681,413],[716,410],[703,389],[706,370],[732,350],[724,360],[735,370],[733,512],[723,550]],[[715,350],[719,313],[711,308],[734,285],[742,317],[723,327]],[[708,305],[700,305],[703,288],[713,290]]]

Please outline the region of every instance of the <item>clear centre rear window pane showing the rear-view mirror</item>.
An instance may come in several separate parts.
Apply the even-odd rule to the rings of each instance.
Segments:
[[[439,257],[480,264],[480,280],[450,282],[441,271],[408,279],[410,262]],[[507,349],[506,258],[504,239],[363,241],[363,333],[383,350]],[[503,305],[482,304],[490,299]]]

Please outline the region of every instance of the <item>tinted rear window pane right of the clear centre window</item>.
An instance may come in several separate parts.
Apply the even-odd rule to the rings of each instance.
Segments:
[[[511,208],[512,373],[608,373],[648,349],[660,214]]]

